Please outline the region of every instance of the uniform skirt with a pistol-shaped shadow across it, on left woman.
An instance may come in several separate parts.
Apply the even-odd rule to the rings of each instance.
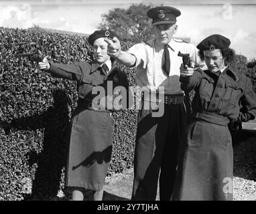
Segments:
[[[103,189],[111,160],[113,128],[109,112],[78,106],[69,132],[66,186]]]

